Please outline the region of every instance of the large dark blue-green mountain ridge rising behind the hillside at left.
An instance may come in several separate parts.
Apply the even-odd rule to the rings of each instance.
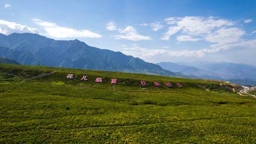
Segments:
[[[79,40],[54,40],[31,33],[0,34],[0,56],[27,65],[187,77],[121,52],[88,46]]]

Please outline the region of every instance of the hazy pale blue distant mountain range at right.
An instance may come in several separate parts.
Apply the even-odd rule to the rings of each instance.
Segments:
[[[230,62],[160,62],[165,70],[194,75],[204,79],[250,79],[256,80],[256,67]]]

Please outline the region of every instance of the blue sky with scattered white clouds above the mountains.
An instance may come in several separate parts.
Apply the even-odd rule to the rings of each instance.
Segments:
[[[79,39],[148,62],[256,65],[256,1],[0,1],[0,33]]]

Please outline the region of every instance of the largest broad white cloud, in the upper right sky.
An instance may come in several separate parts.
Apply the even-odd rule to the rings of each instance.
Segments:
[[[236,22],[210,16],[186,16],[166,18],[167,24],[171,24],[168,31],[161,37],[162,40],[170,40],[177,32],[183,35],[177,36],[178,41],[206,40],[214,43],[238,42],[245,31],[235,27]],[[194,37],[197,38],[194,38]]]

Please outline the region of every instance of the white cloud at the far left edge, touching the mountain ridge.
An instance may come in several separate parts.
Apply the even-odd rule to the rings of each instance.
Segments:
[[[12,34],[12,33],[36,33],[40,34],[36,28],[28,27],[27,25],[17,24],[16,22],[5,21],[0,19],[0,33]]]

